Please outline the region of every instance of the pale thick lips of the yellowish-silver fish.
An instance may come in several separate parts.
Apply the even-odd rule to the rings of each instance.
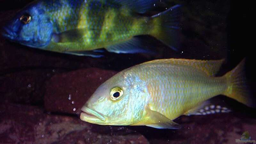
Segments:
[[[80,114],[80,119],[88,122],[96,122],[96,121],[106,121],[106,118],[99,112],[92,110],[86,106],[81,108],[82,112]]]

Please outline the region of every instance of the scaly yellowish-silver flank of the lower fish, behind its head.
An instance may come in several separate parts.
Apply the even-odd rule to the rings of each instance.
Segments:
[[[171,120],[227,89],[225,78],[210,77],[191,67],[146,64],[139,69],[151,72],[140,76],[148,83],[151,108]]]

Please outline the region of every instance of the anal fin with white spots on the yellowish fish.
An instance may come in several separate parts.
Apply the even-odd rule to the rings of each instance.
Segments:
[[[188,110],[184,115],[209,115],[215,113],[228,113],[231,112],[230,109],[212,104],[210,100],[203,102],[199,107]]]

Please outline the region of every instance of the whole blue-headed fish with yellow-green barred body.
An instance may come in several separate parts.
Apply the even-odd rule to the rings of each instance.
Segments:
[[[148,52],[138,35],[177,49],[180,5],[146,16],[158,0],[37,0],[4,27],[11,41],[48,51],[100,57],[109,52]]]

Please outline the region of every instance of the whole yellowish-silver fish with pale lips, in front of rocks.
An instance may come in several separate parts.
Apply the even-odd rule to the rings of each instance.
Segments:
[[[146,125],[177,129],[181,115],[228,112],[208,99],[226,95],[247,106],[244,62],[216,77],[223,60],[163,59],[125,69],[101,84],[82,108],[80,119],[101,125]]]

